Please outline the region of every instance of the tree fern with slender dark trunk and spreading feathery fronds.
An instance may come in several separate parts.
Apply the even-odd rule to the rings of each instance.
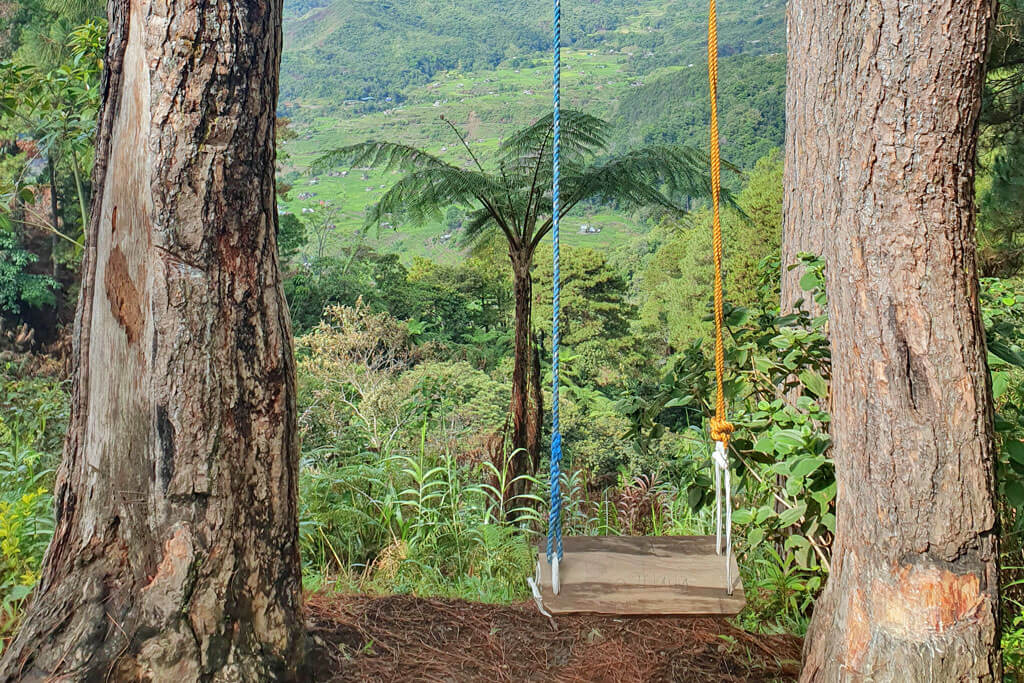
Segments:
[[[468,244],[486,242],[501,234],[508,245],[515,299],[514,364],[512,372],[512,476],[536,470],[539,452],[542,396],[540,368],[534,357],[532,274],[534,255],[551,231],[552,117],[506,138],[489,168],[485,168],[451,122],[468,155],[467,166],[457,166],[423,150],[394,142],[370,141],[321,157],[315,168],[339,165],[400,169],[406,175],[381,198],[368,214],[368,224],[404,219],[424,222],[440,219],[444,209],[468,209],[463,239]],[[609,159],[610,127],[607,122],[581,112],[562,113],[563,172],[562,215],[592,198],[618,202],[626,207],[653,206],[683,213],[679,198],[709,194],[699,154],[682,146],[642,147]],[[531,366],[532,367],[531,369]],[[531,381],[531,374],[534,381]],[[530,403],[532,391],[532,411]]]

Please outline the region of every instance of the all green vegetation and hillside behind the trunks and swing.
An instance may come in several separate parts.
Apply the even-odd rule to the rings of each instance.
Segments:
[[[291,123],[279,131],[279,254],[299,357],[302,556],[309,588],[517,601],[546,531],[547,483],[532,475],[543,462],[509,468],[525,452],[510,435],[508,259],[528,247],[520,274],[535,286],[519,303],[530,348],[519,361],[541,380],[540,409],[551,398],[550,197],[530,190],[551,180],[547,5],[449,5],[285,8],[280,115]],[[1024,13],[1019,0],[1001,7],[977,196],[1004,647],[1020,671]],[[700,154],[681,151],[702,148],[707,136],[703,12],[697,0],[601,0],[575,8],[566,31],[566,99],[587,113],[567,117],[581,141],[562,223],[563,489],[573,533],[711,528],[710,217]],[[793,265],[777,257],[782,2],[723,12],[724,151],[741,171],[728,179],[735,206],[724,216],[734,519],[751,603],[739,622],[803,633],[836,523],[827,319],[778,310],[779,272]],[[0,25],[11,37],[0,48],[0,332],[73,299],[101,54],[95,13],[23,3]],[[342,152],[316,166],[332,148]],[[686,177],[662,173],[670,162]],[[481,210],[481,198],[497,209]],[[823,303],[825,264],[808,255],[806,265],[807,296]],[[22,356],[5,344],[0,337],[0,638],[52,532],[68,400],[55,371],[8,361]]]

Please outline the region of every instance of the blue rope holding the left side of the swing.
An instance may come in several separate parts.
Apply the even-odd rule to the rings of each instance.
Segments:
[[[559,197],[559,166],[561,164],[561,71],[562,71],[562,7],[561,1],[555,0],[555,41],[554,41],[554,134],[552,150],[554,152],[553,183],[551,189],[551,240],[553,245],[552,259],[554,263],[554,289],[552,295],[552,330],[551,330],[551,510],[548,517],[548,562],[553,555],[562,559],[562,492],[560,485],[562,463],[562,434],[558,426],[558,312],[560,274],[558,271],[558,213]]]

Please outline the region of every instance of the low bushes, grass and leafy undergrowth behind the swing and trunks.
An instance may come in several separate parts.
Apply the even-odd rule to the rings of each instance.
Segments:
[[[813,292],[820,264],[811,265],[818,273],[807,282]],[[986,283],[983,304],[999,445],[1002,648],[1013,677],[1024,669],[1024,295]],[[528,599],[525,578],[547,530],[548,486],[529,478],[529,493],[501,495],[518,488],[494,464],[510,454],[488,436],[500,432],[507,405],[501,384],[465,362],[431,357],[394,321],[356,313],[337,311],[333,324],[297,344],[305,587]],[[734,542],[748,599],[736,623],[803,635],[827,577],[835,529],[826,321],[740,309],[730,321]],[[702,429],[710,372],[701,349],[687,349],[657,385],[621,403],[632,428],[620,446],[639,454],[623,462],[645,462],[654,441],[674,432],[667,442],[675,455],[659,467],[621,465],[609,479],[573,467],[570,457],[562,475],[566,533],[713,532]],[[777,397],[779,388],[803,395],[791,404]],[[67,401],[58,380],[12,364],[0,373],[0,639],[16,626],[53,531]]]

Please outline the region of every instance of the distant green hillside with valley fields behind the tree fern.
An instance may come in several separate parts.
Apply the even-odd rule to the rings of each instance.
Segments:
[[[295,0],[285,11],[280,106],[299,136],[284,145],[282,176],[293,189],[282,210],[312,228],[334,225],[328,252],[361,239],[353,236],[366,209],[397,176],[338,169],[313,177],[307,169],[324,151],[376,138],[468,161],[440,115],[486,154],[550,108],[547,0]],[[703,0],[570,1],[563,11],[566,106],[613,121],[620,148],[707,145]],[[720,36],[724,150],[749,168],[782,141],[783,1],[729,3]],[[609,250],[649,226],[591,206],[567,228],[570,245]],[[445,234],[438,222],[368,239],[407,259],[451,260],[461,249]]]

